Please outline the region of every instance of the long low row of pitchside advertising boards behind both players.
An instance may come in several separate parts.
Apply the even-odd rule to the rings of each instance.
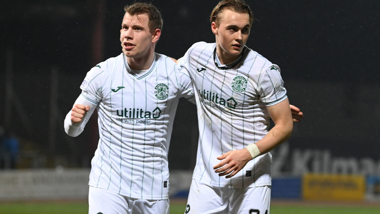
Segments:
[[[87,200],[90,169],[0,171],[0,201]],[[170,172],[170,197],[186,199],[190,170]],[[380,202],[380,176],[305,174],[272,179],[272,199]]]

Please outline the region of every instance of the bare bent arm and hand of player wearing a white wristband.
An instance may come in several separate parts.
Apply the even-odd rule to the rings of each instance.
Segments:
[[[289,101],[287,98],[279,104],[267,107],[267,109],[270,117],[275,122],[275,126],[263,139],[254,144],[257,146],[259,153],[256,157],[270,152],[285,142],[285,140],[290,137],[293,129]],[[238,171],[240,171],[247,162],[253,158],[248,149],[244,148],[242,150],[230,151],[217,159],[222,161],[213,167],[216,169],[215,172],[219,173],[219,176],[227,175],[226,178],[230,178],[238,173]]]

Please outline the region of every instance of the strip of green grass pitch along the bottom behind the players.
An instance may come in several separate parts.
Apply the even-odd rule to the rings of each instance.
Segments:
[[[184,214],[186,202],[171,201],[170,214]],[[0,214],[88,214],[87,202],[0,203]],[[380,204],[272,203],[271,214],[380,214]]]

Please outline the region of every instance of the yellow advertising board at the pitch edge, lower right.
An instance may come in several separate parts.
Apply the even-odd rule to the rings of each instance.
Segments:
[[[314,201],[361,201],[366,192],[363,175],[305,174],[303,199]]]

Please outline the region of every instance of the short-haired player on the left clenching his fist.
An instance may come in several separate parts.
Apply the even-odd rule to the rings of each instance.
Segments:
[[[65,118],[72,137],[95,108],[99,142],[91,162],[89,214],[169,214],[168,152],[180,97],[191,80],[171,58],[154,53],[162,18],[155,6],[125,7],[122,54],[100,62]]]

